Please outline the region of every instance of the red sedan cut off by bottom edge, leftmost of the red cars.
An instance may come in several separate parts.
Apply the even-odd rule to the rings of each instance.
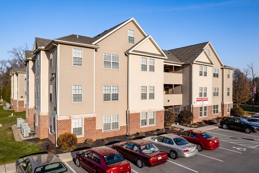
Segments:
[[[77,167],[82,166],[90,173],[131,173],[130,163],[108,147],[77,152],[75,160]]]

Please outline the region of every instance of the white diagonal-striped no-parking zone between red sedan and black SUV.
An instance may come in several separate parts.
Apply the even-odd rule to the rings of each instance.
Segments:
[[[224,131],[227,131],[227,130],[224,130]],[[218,133],[214,133],[214,132],[209,132],[209,133],[211,135],[214,135],[214,134],[222,135],[222,134],[218,134]],[[224,138],[222,138],[222,137],[224,137]],[[219,139],[220,139],[220,141],[229,142],[229,143],[236,144],[236,145],[242,145],[244,147],[255,148],[255,147],[259,146],[258,142],[249,141],[247,139],[237,138],[237,137],[228,136],[228,135],[222,135]],[[238,141],[241,141],[241,142],[238,142]]]

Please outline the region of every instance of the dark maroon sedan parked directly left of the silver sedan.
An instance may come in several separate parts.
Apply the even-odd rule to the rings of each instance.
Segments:
[[[154,167],[168,161],[166,152],[160,151],[152,143],[142,139],[113,144],[112,148],[125,158],[135,161],[139,168]]]

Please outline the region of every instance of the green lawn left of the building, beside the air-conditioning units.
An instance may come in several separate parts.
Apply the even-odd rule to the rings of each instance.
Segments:
[[[32,143],[17,142],[13,137],[11,125],[16,124],[16,118],[25,119],[25,111],[14,112],[13,110],[4,110],[3,104],[0,104],[0,165],[14,163],[19,157],[32,154],[43,154],[39,146]],[[13,117],[8,117],[13,113]]]

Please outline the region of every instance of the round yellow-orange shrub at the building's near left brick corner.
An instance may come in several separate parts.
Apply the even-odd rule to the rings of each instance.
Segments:
[[[64,133],[57,139],[57,145],[63,150],[71,150],[76,147],[77,137],[73,133]]]

